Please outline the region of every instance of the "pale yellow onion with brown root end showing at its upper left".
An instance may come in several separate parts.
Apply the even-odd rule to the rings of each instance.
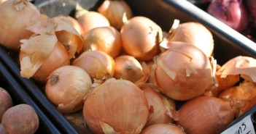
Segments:
[[[82,68],[66,65],[54,70],[48,77],[45,93],[61,113],[82,109],[84,97],[91,89],[90,76]]]

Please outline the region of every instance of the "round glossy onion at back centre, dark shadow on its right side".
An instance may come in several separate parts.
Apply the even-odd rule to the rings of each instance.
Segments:
[[[123,49],[141,61],[150,61],[160,53],[163,39],[161,28],[147,17],[136,16],[124,23],[120,30]]]

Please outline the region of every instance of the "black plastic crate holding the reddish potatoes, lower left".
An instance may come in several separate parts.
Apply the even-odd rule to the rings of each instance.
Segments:
[[[0,60],[0,87],[8,91],[12,97],[13,105],[28,104],[33,106],[39,117],[39,128],[36,130],[36,134],[61,133],[8,71]]]

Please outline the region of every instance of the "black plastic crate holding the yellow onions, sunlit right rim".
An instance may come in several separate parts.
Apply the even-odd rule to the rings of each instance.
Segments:
[[[195,21],[205,25],[213,34],[214,58],[217,59],[218,64],[224,64],[229,59],[239,55],[256,58],[256,43],[186,0],[125,1],[133,10],[134,15],[149,17],[165,31],[171,28],[174,19],[178,19],[180,22]],[[34,4],[42,14],[54,17],[58,14],[69,14],[72,16],[77,3],[85,9],[96,10],[102,2],[103,0],[36,0]],[[47,99],[42,89],[33,80],[20,77],[18,61],[15,61],[13,57],[15,57],[15,53],[0,47],[0,59],[19,83],[21,83],[23,88],[26,88],[26,91],[39,104],[40,108],[62,130],[62,133],[77,133],[63,115],[55,109],[55,106]],[[255,108],[251,109],[247,114],[254,112]],[[241,116],[238,120],[241,120],[243,117]],[[238,122],[238,120],[233,122],[233,124]]]

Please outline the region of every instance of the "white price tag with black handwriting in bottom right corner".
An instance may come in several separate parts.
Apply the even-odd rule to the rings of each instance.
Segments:
[[[253,127],[251,115],[249,114],[243,120],[237,122],[232,127],[221,134],[255,134],[255,128]]]

